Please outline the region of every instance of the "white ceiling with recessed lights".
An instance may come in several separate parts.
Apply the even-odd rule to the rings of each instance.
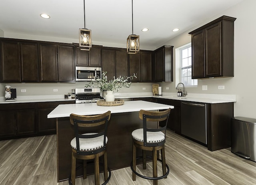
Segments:
[[[242,0],[133,0],[140,46],[159,46]],[[132,34],[132,0],[85,0],[92,41],[126,44]],[[39,15],[46,13],[50,19]],[[83,0],[0,0],[4,32],[77,39],[84,28]],[[149,28],[148,32],[142,32]],[[172,32],[174,28],[180,31]],[[92,44],[94,44],[92,42]]]

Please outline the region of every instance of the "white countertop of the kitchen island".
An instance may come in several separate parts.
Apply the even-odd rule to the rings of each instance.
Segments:
[[[123,113],[123,112],[136,112],[143,110],[159,110],[174,108],[172,105],[164,105],[160,103],[153,103],[149,101],[125,101],[123,105],[118,106],[99,106],[96,103],[76,103],[76,104],[64,104],[58,105],[53,111],[51,111],[47,117],[69,117],[71,113],[77,115],[95,115],[102,114],[106,111],[111,113]]]

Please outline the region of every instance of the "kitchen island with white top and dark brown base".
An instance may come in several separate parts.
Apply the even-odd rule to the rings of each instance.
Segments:
[[[134,129],[142,128],[142,120],[139,119],[140,109],[160,110],[168,108],[174,107],[148,101],[125,101],[124,105],[120,106],[98,106],[96,103],[58,105],[48,114],[48,118],[56,118],[57,124],[58,182],[67,180],[70,175],[70,141],[74,138],[73,126],[69,121],[71,113],[95,115],[111,111],[108,125],[108,166],[110,169],[120,169],[128,167],[132,160],[131,133]],[[78,160],[77,166],[81,164],[82,161]],[[76,176],[82,176],[82,170],[78,170]]]

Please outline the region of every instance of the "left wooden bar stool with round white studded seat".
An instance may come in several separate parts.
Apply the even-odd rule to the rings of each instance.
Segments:
[[[76,136],[70,142],[72,148],[72,166],[69,183],[71,185],[76,184],[76,159],[83,160],[84,179],[86,179],[86,160],[94,159],[95,185],[99,185],[99,157],[102,155],[104,155],[105,180],[102,185],[108,183],[111,176],[110,169],[107,165],[106,152],[106,143],[108,142],[108,137],[106,134],[109,119],[110,111],[100,115],[70,114],[70,123],[74,125],[74,132]]]

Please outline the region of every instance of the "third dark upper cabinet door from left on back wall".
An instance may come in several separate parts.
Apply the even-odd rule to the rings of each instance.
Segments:
[[[40,81],[58,82],[57,45],[40,44]]]

